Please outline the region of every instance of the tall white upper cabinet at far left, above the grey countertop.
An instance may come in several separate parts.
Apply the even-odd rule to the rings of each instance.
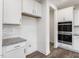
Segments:
[[[4,0],[3,24],[20,24],[22,12],[21,0]]]

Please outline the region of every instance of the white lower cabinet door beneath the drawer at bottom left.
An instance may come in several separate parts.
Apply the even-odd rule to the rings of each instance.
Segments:
[[[24,48],[19,48],[16,50],[12,50],[10,52],[6,52],[3,56],[4,58],[25,58]]]

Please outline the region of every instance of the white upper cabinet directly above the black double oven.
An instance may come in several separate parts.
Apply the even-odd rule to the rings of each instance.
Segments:
[[[58,11],[58,21],[73,21],[73,7],[60,9]]]

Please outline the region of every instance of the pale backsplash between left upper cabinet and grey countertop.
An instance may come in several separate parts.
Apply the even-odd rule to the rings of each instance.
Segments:
[[[3,38],[19,35],[20,35],[19,25],[3,25]]]

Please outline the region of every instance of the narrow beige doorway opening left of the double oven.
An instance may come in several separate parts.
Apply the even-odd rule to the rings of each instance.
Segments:
[[[55,42],[54,42],[54,40],[55,40],[55,36],[54,36],[54,34],[55,34],[55,32],[54,32],[54,26],[55,26],[55,24],[54,24],[54,15],[55,15],[55,10],[52,8],[52,7],[50,7],[49,8],[49,21],[50,21],[50,40],[49,40],[49,43],[50,43],[50,51],[51,50],[53,50],[53,48],[54,48],[54,44],[55,44]]]

